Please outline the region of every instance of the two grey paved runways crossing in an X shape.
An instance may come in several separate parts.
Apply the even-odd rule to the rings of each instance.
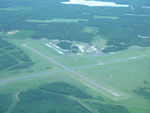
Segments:
[[[80,79],[84,80],[85,82],[89,83],[90,85],[97,87],[115,97],[120,97],[123,96],[122,94],[119,94],[118,92],[112,91],[111,89],[108,89],[104,86],[102,86],[101,84],[96,83],[95,81],[87,78],[86,76],[84,76],[83,74],[79,73],[76,71],[76,69],[84,69],[84,68],[90,68],[93,66],[101,66],[101,65],[106,65],[106,64],[113,64],[113,63],[119,63],[119,62],[126,62],[129,60],[134,60],[134,59],[138,59],[138,58],[142,58],[146,55],[140,55],[140,56],[136,56],[136,57],[130,57],[130,58],[126,58],[126,59],[119,59],[119,60],[115,60],[115,61],[110,61],[110,62],[105,62],[105,63],[97,63],[97,64],[91,64],[91,65],[86,65],[86,66],[78,66],[78,67],[74,67],[74,68],[69,68],[61,63],[59,63],[58,61],[54,60],[51,57],[48,57],[46,55],[44,55],[43,53],[39,52],[38,50],[28,46],[27,44],[22,44],[24,47],[28,48],[29,50],[33,51],[34,53],[40,55],[41,57],[44,57],[45,59],[47,59],[50,62],[53,62],[54,64],[62,67],[62,70],[56,70],[56,71],[50,71],[50,72],[45,72],[45,73],[37,73],[37,74],[32,74],[32,75],[27,75],[27,76],[20,76],[20,77],[15,77],[15,78],[9,78],[6,80],[0,80],[0,83],[9,83],[9,82],[13,82],[13,81],[17,81],[17,80],[24,80],[24,79],[29,79],[29,78],[33,78],[33,77],[38,77],[38,76],[44,76],[44,75],[49,75],[49,74],[53,74],[53,73],[60,73],[60,72],[71,72],[73,75],[76,75],[77,77],[79,77]]]

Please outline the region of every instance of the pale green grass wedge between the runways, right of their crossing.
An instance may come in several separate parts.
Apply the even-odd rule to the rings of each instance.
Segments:
[[[139,82],[150,80],[148,76],[149,60],[150,56],[147,56],[126,62],[90,67],[79,70],[79,72],[98,83],[107,84],[127,93],[132,93],[131,90]],[[127,81],[130,84],[127,84]],[[134,84],[132,84],[133,82]]]

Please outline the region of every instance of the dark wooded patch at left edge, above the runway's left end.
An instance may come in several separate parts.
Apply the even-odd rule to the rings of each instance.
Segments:
[[[33,64],[21,49],[2,39],[0,39],[0,53],[0,71],[23,69]]]

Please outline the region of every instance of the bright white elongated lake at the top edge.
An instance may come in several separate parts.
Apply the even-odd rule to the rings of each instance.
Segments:
[[[70,0],[69,2],[61,2],[62,4],[76,4],[86,5],[90,7],[129,7],[126,4],[116,4],[115,2],[103,2],[103,1],[86,1],[86,0]]]

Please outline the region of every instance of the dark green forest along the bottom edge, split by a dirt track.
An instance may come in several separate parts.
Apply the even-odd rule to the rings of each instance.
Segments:
[[[69,89],[69,91],[68,91]],[[20,101],[12,113],[92,113],[69,96],[92,99],[85,92],[67,83],[54,82],[19,95]],[[104,101],[104,100],[102,100]],[[87,103],[101,113],[130,113],[121,105]]]

